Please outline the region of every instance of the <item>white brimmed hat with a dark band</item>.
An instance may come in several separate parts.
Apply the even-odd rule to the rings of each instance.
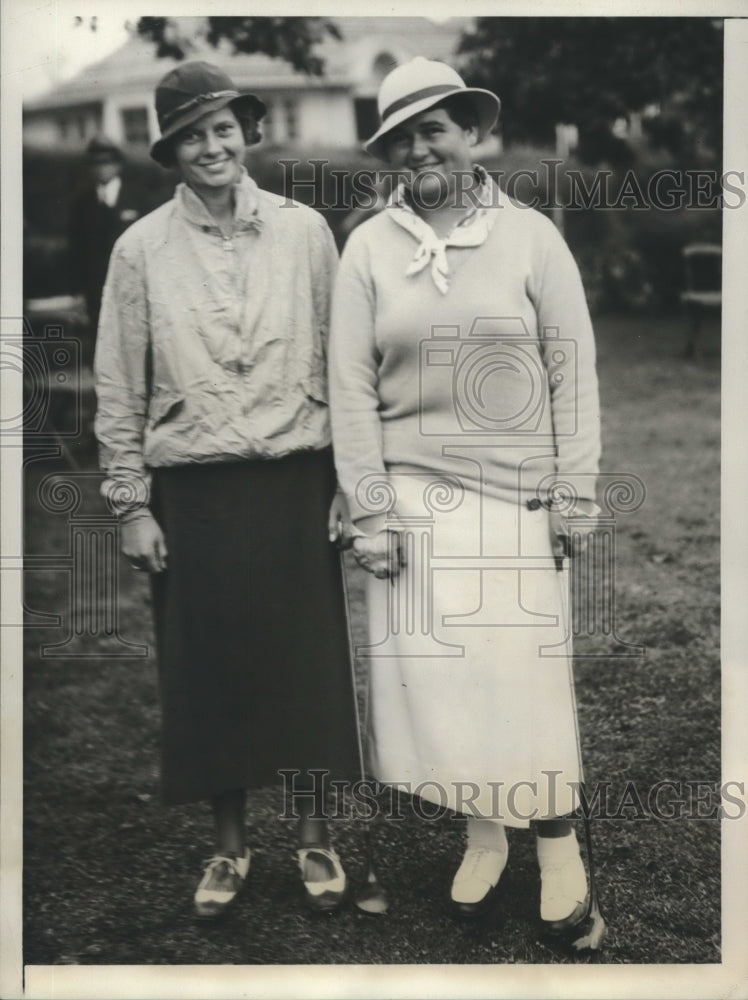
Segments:
[[[480,136],[484,138],[499,117],[501,101],[496,94],[478,87],[466,87],[465,81],[451,66],[416,56],[393,69],[382,81],[377,98],[382,124],[364,143],[364,149],[372,156],[386,160],[383,139],[388,132],[454,94],[470,95],[478,115]]]

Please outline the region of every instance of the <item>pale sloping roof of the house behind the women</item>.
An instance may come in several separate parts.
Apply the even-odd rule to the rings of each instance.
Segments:
[[[339,17],[333,20],[343,37],[340,41],[329,38],[319,45],[319,55],[325,61],[322,77],[298,72],[283,59],[261,53],[234,54],[226,46],[214,49],[207,43],[193,58],[204,57],[221,66],[242,88],[259,91],[278,87],[348,88],[364,81],[372,56],[378,52],[391,54],[398,60],[416,54],[452,60],[460,34],[471,21],[465,17],[449,18],[440,23],[426,17]],[[177,64],[174,59],[156,58],[153,43],[133,35],[105,59],[85,67],[71,80],[30,101],[25,110],[33,112],[88,103],[113,91],[150,90]]]

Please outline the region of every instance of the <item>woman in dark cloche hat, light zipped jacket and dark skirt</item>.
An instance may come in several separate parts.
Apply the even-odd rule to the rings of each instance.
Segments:
[[[247,174],[256,97],[188,62],[161,80],[156,110],[151,155],[182,183],[114,247],[96,433],[123,552],[153,574],[163,796],[212,805],[215,849],[194,897],[212,920],[249,871],[246,790],[288,771],[306,898],[333,909],[346,878],[312,814],[358,761],[328,537],[337,252],[319,214]]]

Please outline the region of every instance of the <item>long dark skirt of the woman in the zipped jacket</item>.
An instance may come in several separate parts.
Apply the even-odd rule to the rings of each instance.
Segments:
[[[159,469],[168,570],[154,577],[169,803],[357,773],[329,450]],[[319,781],[318,781],[319,784]]]

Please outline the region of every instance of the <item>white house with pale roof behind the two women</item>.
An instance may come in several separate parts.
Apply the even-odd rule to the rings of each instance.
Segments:
[[[268,106],[265,143],[356,146],[377,125],[376,94],[398,63],[425,55],[456,64],[455,50],[469,18],[436,23],[425,17],[341,17],[341,40],[319,46],[325,73],[311,77],[282,59],[234,55],[225,48],[191,55],[225,69],[237,86]],[[153,107],[157,81],[177,63],[157,59],[155,46],[133,35],[120,49],[53,92],[24,107],[23,139],[31,147],[83,149],[96,132],[133,151],[158,136]]]

